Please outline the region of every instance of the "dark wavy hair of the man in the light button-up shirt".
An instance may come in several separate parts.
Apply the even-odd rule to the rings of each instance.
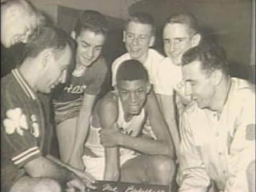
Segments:
[[[207,74],[220,69],[226,75],[229,75],[229,63],[226,60],[226,54],[223,47],[215,43],[204,43],[187,50],[182,55],[182,66],[193,61],[201,62],[201,69]]]

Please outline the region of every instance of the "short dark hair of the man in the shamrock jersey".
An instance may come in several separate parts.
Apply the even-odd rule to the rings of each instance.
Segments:
[[[25,58],[36,57],[41,51],[51,48],[58,53],[67,45],[73,51],[74,42],[62,29],[50,26],[38,27],[33,39],[30,39],[25,45],[24,56]],[[58,56],[58,54],[54,54],[54,56]]]

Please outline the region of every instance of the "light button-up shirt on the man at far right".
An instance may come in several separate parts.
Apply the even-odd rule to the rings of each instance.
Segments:
[[[222,113],[192,102],[181,121],[180,192],[247,192],[246,169],[255,160],[255,89],[231,78]]]

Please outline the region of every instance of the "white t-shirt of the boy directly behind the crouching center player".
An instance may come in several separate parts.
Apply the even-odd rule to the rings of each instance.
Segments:
[[[120,57],[116,58],[114,62],[112,63],[112,86],[116,84],[116,72],[119,67],[119,65],[126,60],[130,60],[131,57],[129,53],[125,53],[121,55]],[[144,67],[148,70],[149,73],[149,79],[150,83],[154,84],[154,81],[156,79],[155,72],[158,67],[158,65],[161,63],[161,61],[164,60],[164,56],[162,56],[158,51],[154,49],[148,50],[148,58],[143,63]]]

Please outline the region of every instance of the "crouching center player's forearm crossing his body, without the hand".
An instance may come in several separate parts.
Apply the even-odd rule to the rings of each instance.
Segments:
[[[145,137],[131,137],[122,134],[119,138],[118,145],[128,147],[145,154],[173,156],[167,142],[160,140],[146,139]]]

